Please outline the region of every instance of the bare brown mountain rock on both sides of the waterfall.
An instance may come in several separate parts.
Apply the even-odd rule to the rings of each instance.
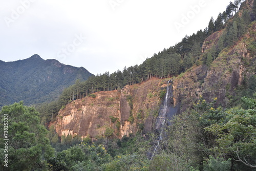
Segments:
[[[180,75],[156,80],[149,76],[151,79],[146,82],[127,85],[119,91],[97,92],[95,98],[85,97],[67,104],[59,111],[54,122],[58,135],[90,135],[96,138],[104,136],[110,128],[113,131],[112,137],[121,138],[138,131],[146,134],[156,130],[155,123],[168,79],[172,79],[172,91],[167,97],[168,119],[174,113],[181,114],[193,109],[201,97],[206,102],[216,99],[215,105],[222,108],[241,105],[241,98],[252,97],[256,87],[256,23],[248,23],[239,38],[234,39],[234,33],[231,35],[230,32],[237,27],[238,20],[249,16],[246,16],[246,9],[251,6],[251,1],[244,2],[240,11],[223,29],[207,36],[202,43],[200,56],[195,57],[195,65]],[[223,39],[228,44],[229,35],[229,45],[220,49]],[[217,54],[218,49],[220,51]],[[144,63],[148,60],[152,59]],[[185,60],[185,57],[181,60]],[[148,75],[153,73],[150,69],[145,71]],[[116,118],[114,122],[113,117]]]

